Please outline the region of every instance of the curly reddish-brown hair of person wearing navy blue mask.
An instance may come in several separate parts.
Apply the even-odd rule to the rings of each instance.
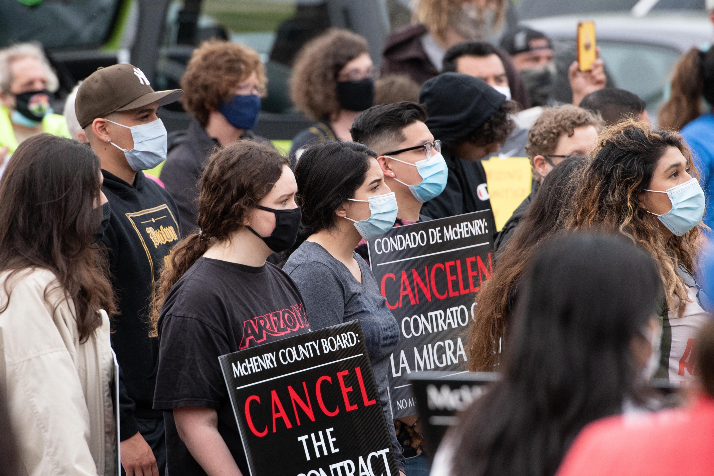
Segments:
[[[231,98],[236,84],[248,79],[253,72],[264,88],[268,81],[265,69],[260,56],[248,46],[219,39],[203,41],[193,50],[186,73],[181,77],[181,104],[206,127],[211,111]]]

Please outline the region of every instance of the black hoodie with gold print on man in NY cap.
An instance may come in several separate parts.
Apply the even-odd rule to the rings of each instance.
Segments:
[[[161,410],[152,408],[159,340],[149,338],[149,303],[154,281],[181,234],[176,204],[158,183],[143,172],[136,173],[134,186],[105,170],[101,173],[102,191],[111,206],[101,243],[109,248],[109,270],[119,301],[111,344],[128,394],[122,395],[120,409],[121,440],[126,440],[139,431],[135,417],[163,417]]]

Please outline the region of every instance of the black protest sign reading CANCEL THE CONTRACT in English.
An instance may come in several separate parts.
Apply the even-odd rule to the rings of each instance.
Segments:
[[[251,476],[398,476],[358,320],[218,360]]]

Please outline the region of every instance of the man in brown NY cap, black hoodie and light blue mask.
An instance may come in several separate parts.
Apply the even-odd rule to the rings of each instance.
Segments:
[[[166,158],[166,128],[156,111],[182,95],[181,89],[154,91],[139,68],[116,64],[91,74],[75,99],[111,206],[101,244],[109,249],[119,300],[111,339],[123,374],[121,463],[129,476],[163,475],[166,466],[164,417],[153,409],[159,343],[149,338],[149,304],[181,233],[174,200],[143,171]]]

